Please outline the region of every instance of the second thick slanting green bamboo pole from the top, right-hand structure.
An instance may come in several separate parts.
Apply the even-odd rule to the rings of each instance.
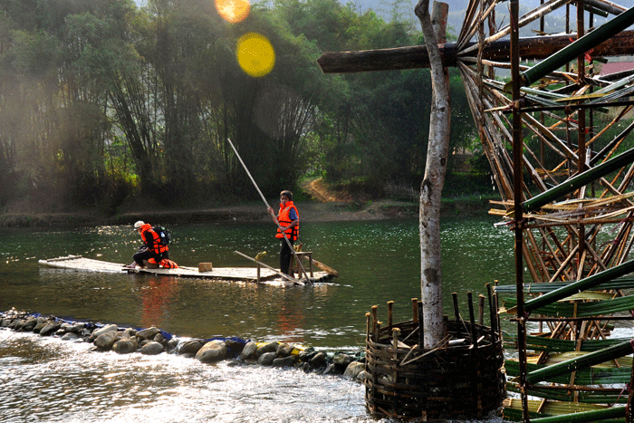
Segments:
[[[579,175],[569,178],[557,187],[552,187],[547,191],[543,191],[542,194],[538,194],[524,201],[524,212],[532,212],[557,198],[563,197],[584,185],[590,184],[593,180],[602,178],[618,168],[631,164],[632,161],[634,161],[634,149],[629,149],[613,159],[607,160],[594,168],[590,168],[585,172],[581,172]]]

